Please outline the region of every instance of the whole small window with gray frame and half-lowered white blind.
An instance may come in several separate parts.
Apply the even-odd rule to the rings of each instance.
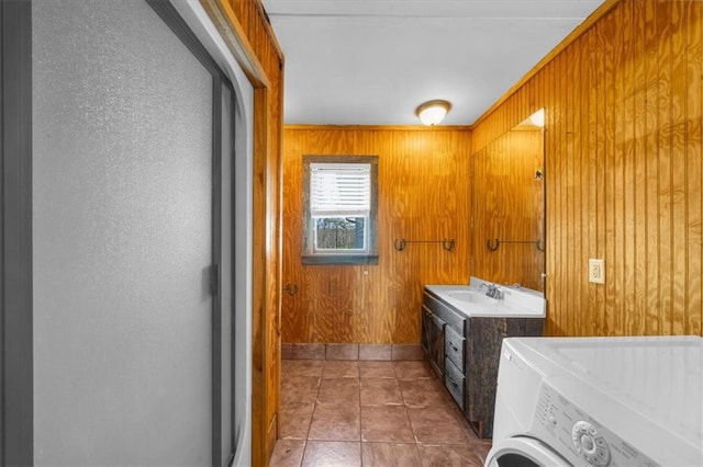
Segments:
[[[303,157],[303,264],[378,264],[377,156]]]

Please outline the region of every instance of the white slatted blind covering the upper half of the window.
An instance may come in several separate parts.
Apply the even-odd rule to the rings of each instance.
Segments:
[[[369,163],[310,164],[310,214],[313,217],[365,217],[370,209]]]

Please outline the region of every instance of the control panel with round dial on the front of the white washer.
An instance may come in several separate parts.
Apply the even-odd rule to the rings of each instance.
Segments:
[[[531,431],[574,465],[658,465],[545,381],[539,388]]]

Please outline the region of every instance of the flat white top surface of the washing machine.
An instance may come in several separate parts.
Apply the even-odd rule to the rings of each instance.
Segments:
[[[703,338],[514,338],[545,376],[571,374],[703,446]],[[604,421],[605,422],[605,421]],[[701,447],[699,447],[701,448]]]

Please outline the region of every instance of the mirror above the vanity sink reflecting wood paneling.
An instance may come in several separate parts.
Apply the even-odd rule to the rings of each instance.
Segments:
[[[471,275],[500,284],[544,289],[544,170],[542,129],[507,132],[472,157]],[[498,250],[491,251],[487,241]],[[536,244],[506,241],[537,241]]]

